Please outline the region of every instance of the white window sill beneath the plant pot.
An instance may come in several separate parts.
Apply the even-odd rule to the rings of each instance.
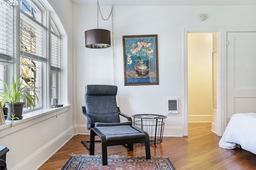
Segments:
[[[45,119],[48,119],[49,117],[56,116],[58,114],[63,113],[63,110],[68,110],[71,104],[69,105],[64,105],[63,107],[58,107],[58,108],[48,108],[48,109],[39,109],[36,111],[30,111],[27,113],[23,113],[23,119],[14,121],[12,124],[12,129],[16,128],[16,126],[24,124],[24,123],[29,123],[32,120],[38,119],[38,121],[35,121],[33,123],[30,123],[30,125],[33,125],[35,123],[38,123],[40,121],[43,121]],[[0,125],[0,134],[6,130],[10,129],[10,123],[11,121],[5,121],[5,124]],[[2,135],[0,135],[2,136]]]

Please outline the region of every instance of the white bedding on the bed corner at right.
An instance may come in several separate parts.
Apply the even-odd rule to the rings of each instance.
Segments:
[[[236,145],[256,154],[256,113],[237,113],[232,115],[219,146],[234,149]]]

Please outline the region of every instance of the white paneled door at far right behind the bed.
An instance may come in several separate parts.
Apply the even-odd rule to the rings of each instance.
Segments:
[[[227,121],[256,112],[256,32],[228,32]]]

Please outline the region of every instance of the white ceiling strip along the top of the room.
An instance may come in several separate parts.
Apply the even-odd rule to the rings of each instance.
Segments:
[[[97,0],[72,0],[79,5],[96,5]],[[233,6],[256,5],[256,0],[99,0],[100,6]]]

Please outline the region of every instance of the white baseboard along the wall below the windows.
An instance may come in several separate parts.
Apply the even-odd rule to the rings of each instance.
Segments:
[[[73,136],[73,127],[70,127],[52,141],[48,142],[44,147],[34,152],[34,154],[27,157],[21,164],[17,165],[14,170],[32,170],[40,168],[40,166],[52,157]]]

